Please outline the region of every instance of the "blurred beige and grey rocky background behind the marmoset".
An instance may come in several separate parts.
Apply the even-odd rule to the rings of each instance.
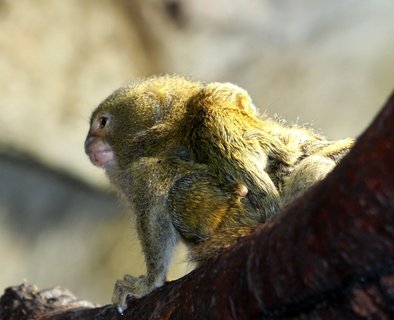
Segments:
[[[392,0],[0,0],[0,288],[108,303],[144,272],[131,215],[83,152],[120,85],[180,73],[261,111],[357,136],[394,85]],[[171,278],[190,269],[182,249]]]

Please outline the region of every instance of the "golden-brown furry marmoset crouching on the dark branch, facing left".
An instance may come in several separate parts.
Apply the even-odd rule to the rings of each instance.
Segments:
[[[178,240],[202,263],[250,233],[352,143],[260,117],[229,83],[164,76],[116,90],[93,112],[85,150],[134,212],[147,274],[117,281],[113,302],[123,310],[161,286]]]

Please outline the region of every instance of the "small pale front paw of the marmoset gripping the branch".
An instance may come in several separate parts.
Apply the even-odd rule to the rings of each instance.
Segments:
[[[118,312],[123,314],[127,309],[127,297],[143,297],[153,288],[148,284],[146,276],[133,277],[126,274],[123,280],[115,282],[115,290],[112,296],[112,303],[117,307]]]

